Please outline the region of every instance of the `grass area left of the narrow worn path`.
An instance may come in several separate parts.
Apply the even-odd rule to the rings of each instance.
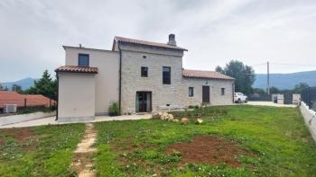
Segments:
[[[0,129],[0,176],[74,176],[84,124]]]

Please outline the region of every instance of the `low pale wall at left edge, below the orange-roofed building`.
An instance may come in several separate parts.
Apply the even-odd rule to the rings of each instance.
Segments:
[[[34,112],[34,113],[29,113],[29,114],[4,116],[4,117],[0,117],[0,126],[28,121],[31,119],[42,119],[42,118],[47,118],[47,117],[51,117],[55,115],[56,115],[56,111],[51,111],[51,112],[39,111],[39,112]]]

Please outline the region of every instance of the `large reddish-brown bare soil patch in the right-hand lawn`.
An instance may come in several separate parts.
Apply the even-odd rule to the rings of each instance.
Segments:
[[[218,137],[198,136],[191,142],[175,143],[167,148],[167,154],[181,153],[182,163],[227,164],[239,167],[237,155],[247,155],[246,150]]]

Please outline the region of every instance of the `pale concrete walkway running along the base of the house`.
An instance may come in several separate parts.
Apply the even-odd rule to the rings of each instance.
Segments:
[[[96,119],[89,121],[81,121],[84,123],[89,122],[98,122],[98,121],[113,121],[113,120],[128,120],[128,119],[151,119],[151,114],[144,115],[122,115],[122,116],[96,116]],[[78,123],[78,122],[58,122],[55,120],[55,117],[43,118],[43,119],[33,119],[29,121],[23,121],[14,124],[8,124],[5,126],[0,126],[0,128],[23,128],[23,127],[34,127],[42,125],[56,125],[56,124],[68,124],[68,123]]]

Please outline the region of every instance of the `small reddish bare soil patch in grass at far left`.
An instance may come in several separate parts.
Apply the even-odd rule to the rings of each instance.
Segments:
[[[33,131],[29,128],[6,128],[3,133],[5,136],[14,137],[19,143],[23,143],[23,141],[34,136]]]

